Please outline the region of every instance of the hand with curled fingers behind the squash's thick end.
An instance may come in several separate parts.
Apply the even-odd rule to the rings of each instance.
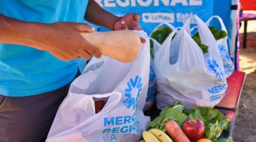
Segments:
[[[113,24],[113,30],[142,30],[137,22],[139,19],[140,16],[137,13],[126,14]],[[141,38],[141,42],[145,43],[146,40]]]

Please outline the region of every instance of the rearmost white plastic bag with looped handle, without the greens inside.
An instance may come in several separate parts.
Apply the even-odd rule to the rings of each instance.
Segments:
[[[225,27],[221,17],[219,17],[218,15],[214,15],[214,16],[210,17],[210,19],[208,19],[205,22],[205,24],[207,26],[209,26],[210,22],[214,18],[218,19],[218,21],[220,22],[222,31],[226,31],[226,33],[228,33],[228,31],[226,30],[226,27]],[[227,40],[228,40],[228,36],[216,40],[217,46],[218,46],[218,50],[220,52],[220,56],[222,57],[222,62],[223,62],[223,65],[224,65],[224,70],[225,70],[226,78],[228,78],[234,72],[234,63],[232,62],[232,60],[231,60],[231,58],[230,58],[230,56],[228,54],[228,43],[227,43]]]

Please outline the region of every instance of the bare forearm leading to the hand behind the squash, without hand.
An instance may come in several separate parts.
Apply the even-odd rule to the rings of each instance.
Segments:
[[[112,13],[109,13],[108,11],[105,11],[96,3],[94,0],[88,1],[88,7],[86,9],[86,15],[84,16],[84,19],[86,21],[93,23],[95,25],[100,25],[102,27],[106,27],[108,29],[112,29],[113,23],[118,19],[119,17],[113,15]]]

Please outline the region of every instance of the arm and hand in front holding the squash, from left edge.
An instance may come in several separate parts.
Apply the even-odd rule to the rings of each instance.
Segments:
[[[89,60],[91,55],[100,58],[100,52],[79,33],[92,31],[86,23],[36,23],[0,14],[0,43],[29,46],[65,61],[80,57]]]

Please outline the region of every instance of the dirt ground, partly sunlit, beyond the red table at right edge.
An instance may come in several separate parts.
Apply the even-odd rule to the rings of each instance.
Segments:
[[[256,11],[244,11],[244,13],[256,13]],[[247,48],[243,48],[243,22],[240,34],[239,68],[245,72],[245,84],[243,86],[239,104],[238,117],[234,123],[232,139],[235,142],[256,141],[256,20],[247,24]]]

